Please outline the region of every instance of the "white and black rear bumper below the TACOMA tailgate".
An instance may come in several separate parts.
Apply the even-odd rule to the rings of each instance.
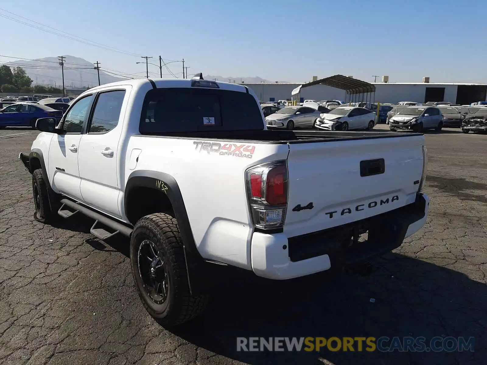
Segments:
[[[252,270],[270,279],[290,279],[383,255],[425,224],[429,204],[427,195],[418,194],[414,203],[401,208],[297,237],[254,232]],[[367,239],[359,241],[365,231]]]

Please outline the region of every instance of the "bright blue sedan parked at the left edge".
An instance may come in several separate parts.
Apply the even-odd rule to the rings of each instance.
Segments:
[[[60,121],[63,112],[44,105],[16,103],[0,110],[0,128],[7,126],[36,128],[38,118],[56,118]]]

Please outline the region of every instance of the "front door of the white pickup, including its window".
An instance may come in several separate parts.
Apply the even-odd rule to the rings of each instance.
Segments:
[[[54,190],[78,201],[83,201],[79,187],[78,149],[92,104],[93,94],[73,104],[62,119],[66,133],[56,134],[49,148],[49,181]]]

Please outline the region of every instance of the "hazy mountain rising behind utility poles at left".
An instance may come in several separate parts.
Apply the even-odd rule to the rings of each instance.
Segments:
[[[98,74],[95,65],[87,60],[66,55],[64,60],[64,85],[69,87],[94,87],[98,85]],[[57,57],[38,58],[32,61],[18,60],[9,62],[8,66],[22,67],[27,75],[34,80],[33,85],[62,85],[61,66]],[[26,66],[27,65],[27,66]],[[100,66],[103,68],[103,66]],[[112,76],[100,70],[100,83],[126,80],[123,77]]]

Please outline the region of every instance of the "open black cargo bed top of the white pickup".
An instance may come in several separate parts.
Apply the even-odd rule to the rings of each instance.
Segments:
[[[198,131],[154,134],[175,138],[231,139],[269,144],[301,144],[313,142],[337,142],[374,138],[401,138],[419,136],[421,133],[366,132],[366,131],[321,131],[321,130],[235,130],[235,131]],[[147,134],[146,134],[147,136]]]

